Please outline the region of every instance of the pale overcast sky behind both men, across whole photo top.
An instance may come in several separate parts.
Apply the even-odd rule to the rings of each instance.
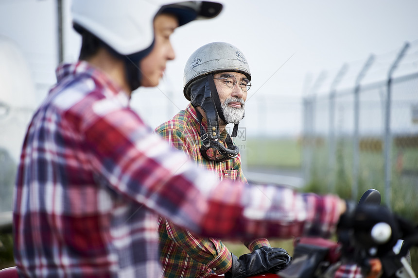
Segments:
[[[64,56],[73,62],[80,39],[71,29],[69,0],[64,7]],[[417,0],[228,0],[217,18],[175,31],[176,60],[168,64],[164,81],[155,89],[139,89],[133,104],[140,111],[149,101],[160,102],[159,109],[169,114],[184,108],[184,64],[195,49],[213,41],[229,42],[246,56],[252,72],[250,99],[268,101],[275,95],[282,96],[282,103],[300,103],[304,84],[310,84],[305,80],[312,81],[321,70],[337,70],[345,62],[398,51],[405,41],[416,41],[417,11]],[[39,99],[54,82],[56,30],[55,0],[0,0],[0,35],[13,39],[27,57]],[[159,118],[156,110],[144,110],[151,125],[167,118]],[[300,130],[300,107],[295,113],[291,125]],[[244,120],[248,117],[257,121],[254,114]]]

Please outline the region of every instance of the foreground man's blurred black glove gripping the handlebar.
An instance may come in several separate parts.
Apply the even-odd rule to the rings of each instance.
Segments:
[[[392,229],[391,236],[386,243],[377,243],[371,237],[372,228],[380,222],[387,223]],[[395,215],[387,207],[376,204],[353,206],[352,203],[348,203],[347,211],[341,215],[337,229],[339,234],[352,230],[354,238],[349,241],[354,240],[355,245],[366,250],[375,247],[378,254],[390,251],[400,237]],[[346,232],[346,234],[350,233]]]

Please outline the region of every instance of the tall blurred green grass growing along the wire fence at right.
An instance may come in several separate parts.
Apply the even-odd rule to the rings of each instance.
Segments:
[[[352,141],[341,138],[336,145],[335,164],[328,163],[327,143],[315,146],[312,150],[311,180],[305,191],[320,194],[332,192],[342,198],[358,200],[369,188],[375,188],[382,194],[382,203],[386,203],[384,156],[381,150],[365,149],[359,152],[358,190],[352,196],[353,184],[353,147]],[[418,222],[418,148],[392,146],[391,171],[391,208],[399,215]],[[411,249],[412,267],[418,273],[418,249]]]

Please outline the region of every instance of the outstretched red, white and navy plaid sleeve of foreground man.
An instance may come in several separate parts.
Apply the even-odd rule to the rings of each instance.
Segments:
[[[339,219],[335,196],[217,180],[113,99],[86,108],[78,128],[93,171],[112,191],[195,234],[244,240],[329,235]]]

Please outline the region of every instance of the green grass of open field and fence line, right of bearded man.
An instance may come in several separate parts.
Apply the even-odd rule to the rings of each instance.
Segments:
[[[365,142],[365,140],[363,140]],[[371,142],[373,142],[371,140]],[[303,146],[296,138],[253,138],[245,142],[247,164],[249,166],[269,166],[277,168],[299,168]],[[371,144],[372,145],[372,144]],[[381,148],[364,148],[359,152],[359,173],[357,196],[352,196],[353,184],[353,146],[349,138],[339,138],[336,142],[336,156],[329,163],[329,142],[317,138],[312,144],[311,180],[305,192],[319,194],[335,193],[342,198],[358,200],[369,188],[382,194],[385,203],[384,156]],[[403,217],[418,222],[418,148],[411,146],[392,146],[391,207]],[[291,241],[290,241],[291,242]],[[293,245],[288,241],[275,242],[278,245]],[[233,244],[238,253],[248,253],[240,244]],[[287,249],[287,248],[285,248]],[[293,251],[292,251],[293,252]],[[412,266],[418,273],[418,248],[411,249]]]

